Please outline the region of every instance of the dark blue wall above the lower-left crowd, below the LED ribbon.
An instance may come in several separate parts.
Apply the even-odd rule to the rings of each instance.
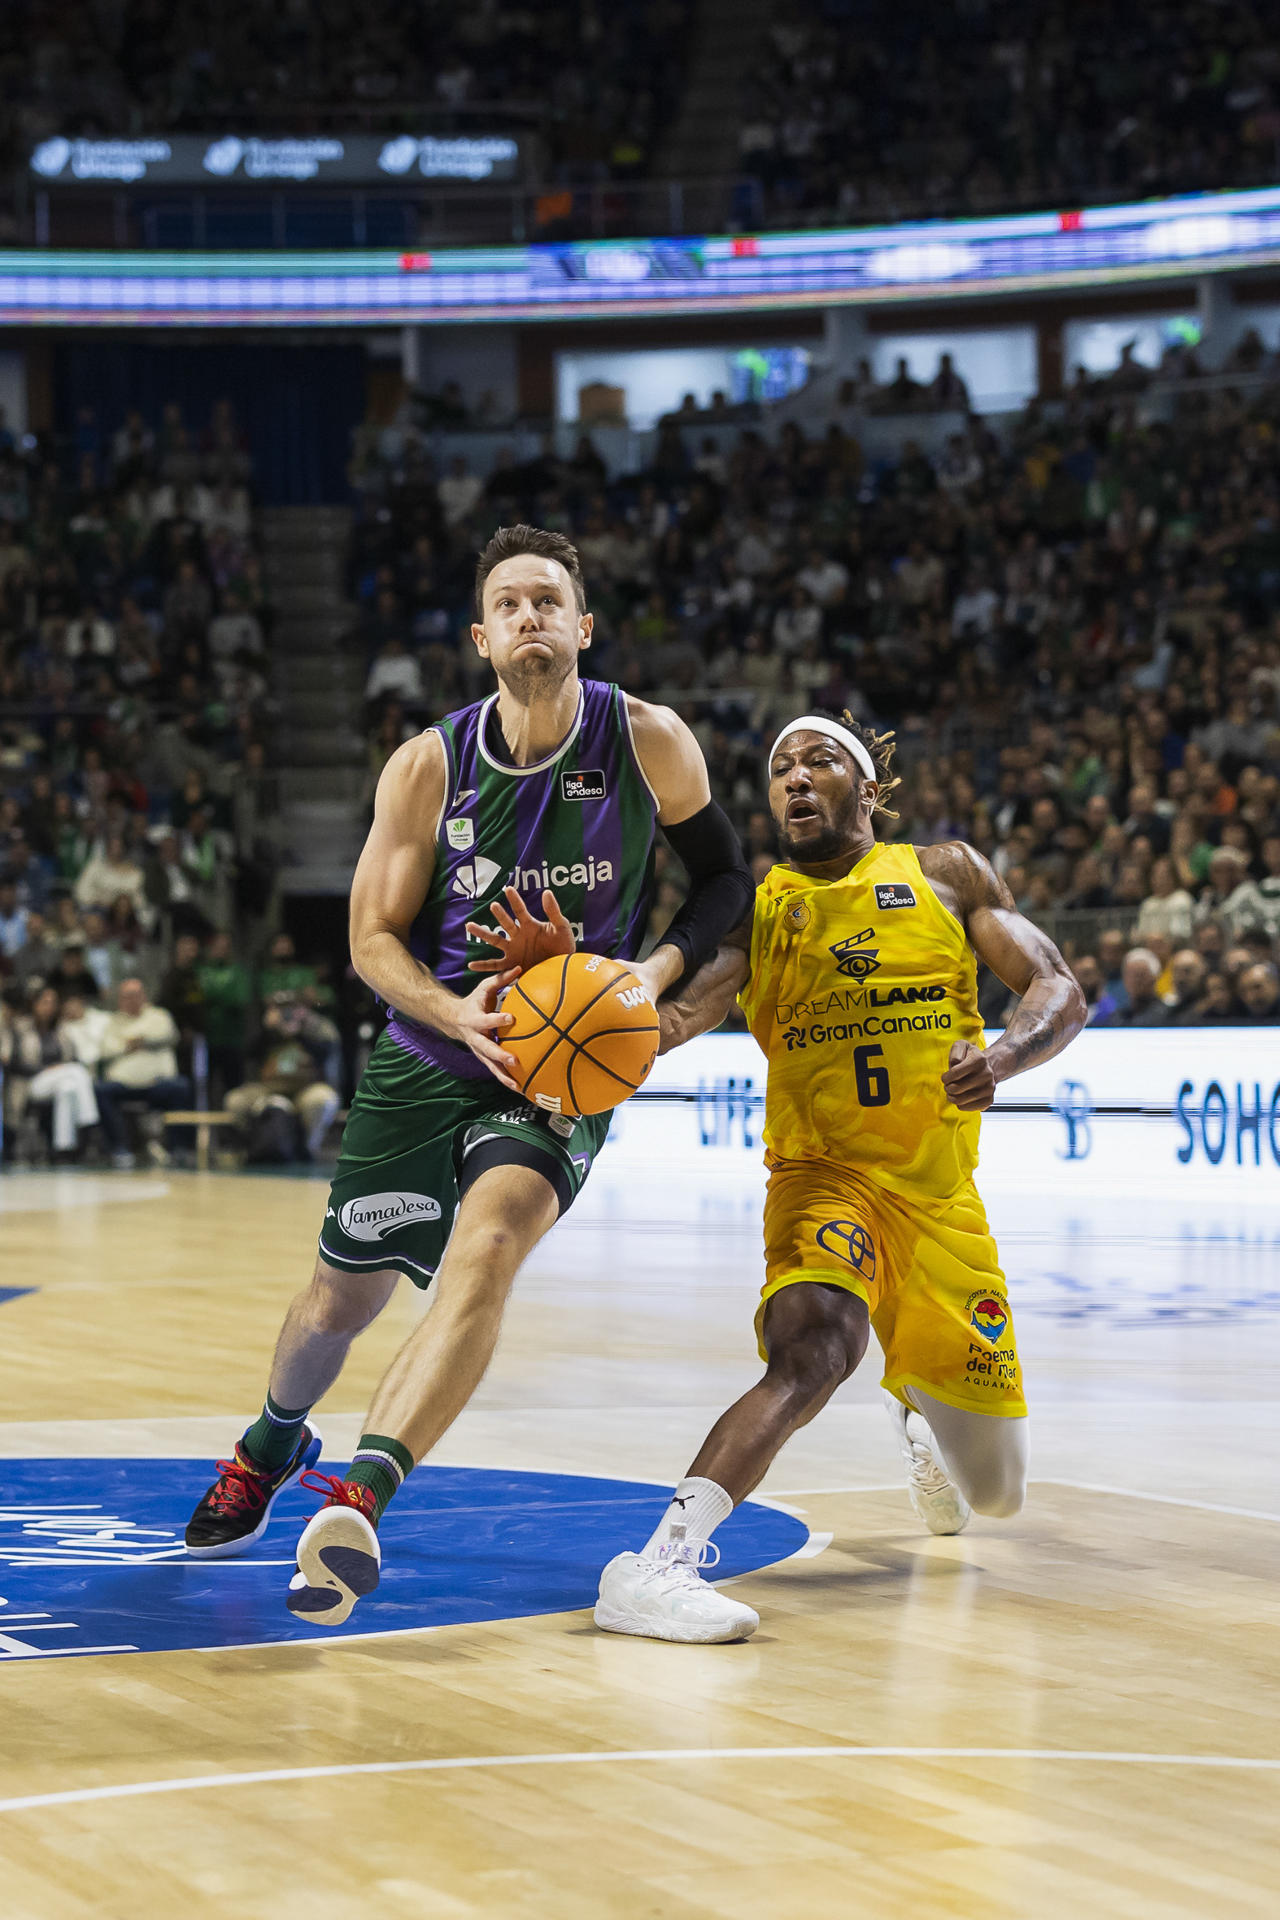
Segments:
[[[54,392],[61,430],[92,407],[104,436],[129,407],[159,426],[165,403],[177,399],[200,438],[213,403],[226,397],[249,440],[263,505],[345,501],[351,430],[365,415],[365,349],[67,340],[58,346]]]

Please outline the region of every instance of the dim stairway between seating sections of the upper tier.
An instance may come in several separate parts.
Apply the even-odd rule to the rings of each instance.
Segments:
[[[743,81],[758,65],[773,13],[773,0],[700,0],[685,96],[656,154],[662,179],[741,173]]]

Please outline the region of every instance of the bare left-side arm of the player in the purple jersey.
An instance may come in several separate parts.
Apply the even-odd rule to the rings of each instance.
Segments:
[[[491,975],[462,998],[409,952],[409,929],[436,872],[443,799],[443,745],[438,733],[418,733],[397,747],[378,781],[374,824],[351,881],[351,964],[388,1006],[468,1046],[514,1089],[510,1056],[493,1039],[510,1025],[493,1002],[514,972]]]

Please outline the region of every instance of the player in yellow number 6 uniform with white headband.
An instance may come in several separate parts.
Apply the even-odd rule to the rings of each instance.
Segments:
[[[764,1379],[712,1427],[643,1553],[601,1576],[599,1626],[743,1640],[750,1607],[699,1576],[710,1534],[867,1348],[919,1519],[1017,1513],[1027,1402],[996,1244],[973,1185],[996,1087],[1084,1025],[1061,954],[973,847],[879,843],[892,735],[804,714],[770,756],[783,862],[754,916],[672,1002],[662,1044],[720,1025],[737,995],[768,1054]],[[983,1048],[977,960],[1021,1004]]]

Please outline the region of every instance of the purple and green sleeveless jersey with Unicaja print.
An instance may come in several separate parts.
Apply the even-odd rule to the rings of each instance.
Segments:
[[[493,948],[468,939],[466,922],[491,924],[489,908],[509,885],[539,918],[549,887],[583,950],[635,958],[652,904],[658,803],[622,687],[583,680],[578,718],[533,766],[512,766],[497,693],[449,714],[436,732],[445,745],[445,804],[436,872],[409,935],[415,960],[455,993],[470,993],[480,975],[466,972],[468,960],[493,958]],[[388,1035],[461,1079],[487,1077],[472,1052],[395,1012]]]

